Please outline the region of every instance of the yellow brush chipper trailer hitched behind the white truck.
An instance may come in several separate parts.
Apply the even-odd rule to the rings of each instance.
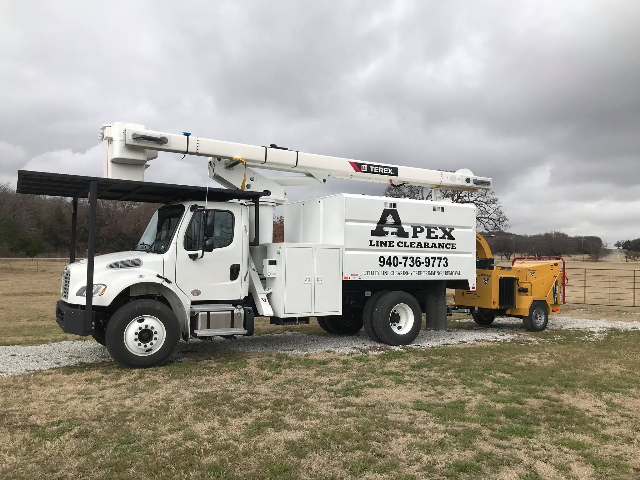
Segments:
[[[529,332],[547,328],[549,315],[564,303],[568,282],[562,257],[515,257],[511,266],[494,266],[483,236],[476,233],[476,289],[456,289],[450,312],[466,312],[479,325],[495,317],[518,317]]]

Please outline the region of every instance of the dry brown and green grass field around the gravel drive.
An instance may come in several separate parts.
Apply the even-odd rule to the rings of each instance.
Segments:
[[[67,338],[53,319],[60,266],[0,274],[3,344]],[[640,332],[518,338],[381,355],[207,351],[141,371],[2,377],[0,478],[638,478]]]

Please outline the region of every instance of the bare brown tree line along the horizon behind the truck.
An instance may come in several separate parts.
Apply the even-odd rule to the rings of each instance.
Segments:
[[[431,195],[422,187],[393,188],[386,196],[419,198]],[[477,192],[440,191],[444,198],[456,203],[474,203],[477,207],[477,228],[483,232],[494,254],[511,259],[513,253],[534,256],[580,254],[598,260],[607,253],[607,244],[600,237],[572,237],[563,232],[538,235],[511,234],[508,218],[490,190]],[[160,205],[99,200],[97,203],[95,246],[97,253],[129,250],[144,232],[148,221]],[[10,184],[0,184],[0,257],[44,255],[67,257],[71,237],[71,200],[68,198],[19,195]],[[83,257],[87,248],[89,207],[86,199],[78,200],[76,252]],[[284,218],[277,217],[273,225],[273,241],[284,241]],[[640,251],[640,238],[616,242],[629,252]],[[630,254],[631,257],[631,254]],[[640,254],[639,254],[640,257]]]

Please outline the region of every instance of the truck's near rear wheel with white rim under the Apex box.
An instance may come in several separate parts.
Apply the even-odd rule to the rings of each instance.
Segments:
[[[373,328],[382,342],[388,345],[408,345],[420,333],[422,310],[407,292],[383,294],[373,311]]]

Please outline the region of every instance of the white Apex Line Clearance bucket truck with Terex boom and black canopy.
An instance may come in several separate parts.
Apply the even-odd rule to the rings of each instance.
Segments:
[[[469,170],[365,163],[120,122],[103,125],[100,139],[104,178],[19,172],[18,191],[72,196],[74,206],[88,194],[94,226],[99,198],[166,203],[129,252],[94,258],[90,228],[88,259],[63,273],[58,324],[93,335],[125,367],[163,364],[180,336],[252,335],[254,314],[274,324],[316,317],[327,332],[364,327],[373,340],[406,345],[425,308],[429,326],[446,328],[445,287],[476,288],[473,205],[346,193],[289,203],[284,190],[332,177],[491,188]],[[208,157],[210,177],[226,189],[145,182],[158,151]],[[273,209],[283,204],[285,242],[271,243]]]

